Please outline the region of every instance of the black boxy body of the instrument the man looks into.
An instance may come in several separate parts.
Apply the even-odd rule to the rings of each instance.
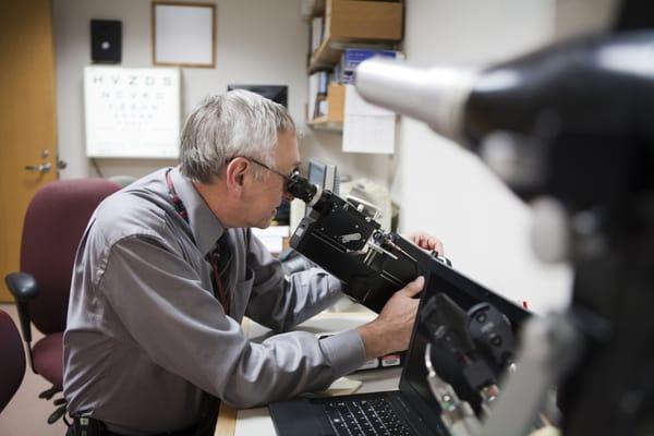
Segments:
[[[436,262],[330,191],[319,195],[290,245],[343,281],[356,302],[380,312],[396,291]]]

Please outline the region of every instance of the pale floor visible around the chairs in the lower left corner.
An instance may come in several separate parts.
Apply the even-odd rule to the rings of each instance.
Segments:
[[[16,326],[19,315],[13,304],[0,304],[0,308],[9,313]],[[33,343],[38,341],[43,335],[32,329]],[[0,413],[0,435],[5,436],[63,436],[65,424],[60,420],[49,425],[47,420],[55,411],[51,400],[46,401],[38,398],[39,392],[48,389],[50,385],[40,376],[34,374],[29,364],[25,371],[25,378],[19,391]]]

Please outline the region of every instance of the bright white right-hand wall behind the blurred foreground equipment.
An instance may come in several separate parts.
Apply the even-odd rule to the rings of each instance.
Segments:
[[[552,40],[548,0],[408,0],[404,51],[419,65],[482,65]],[[543,311],[568,301],[570,272],[540,263],[531,211],[475,156],[402,119],[392,186],[401,227],[440,237],[456,267],[512,300]]]

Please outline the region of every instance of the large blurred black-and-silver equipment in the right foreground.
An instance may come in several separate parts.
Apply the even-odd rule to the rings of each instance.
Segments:
[[[623,14],[625,27],[638,16]],[[356,88],[467,144],[538,199],[536,221],[549,225],[537,239],[558,242],[536,251],[574,268],[570,307],[528,326],[484,435],[524,434],[533,416],[519,411],[537,410],[550,382],[564,434],[654,434],[654,32],[585,37],[477,71],[373,59]],[[510,410],[502,401],[518,407],[502,416],[514,425],[493,427]]]

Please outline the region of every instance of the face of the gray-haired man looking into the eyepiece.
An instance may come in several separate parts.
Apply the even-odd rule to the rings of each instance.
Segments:
[[[283,131],[279,133],[275,165],[271,168],[288,175],[300,165],[298,140],[293,132]],[[257,165],[254,164],[254,166]],[[253,180],[253,192],[252,195],[249,195],[246,205],[246,220],[249,227],[265,229],[270,226],[282,198],[290,199],[290,197],[284,191],[286,180],[283,177],[262,167],[257,170],[263,173],[263,177]]]

